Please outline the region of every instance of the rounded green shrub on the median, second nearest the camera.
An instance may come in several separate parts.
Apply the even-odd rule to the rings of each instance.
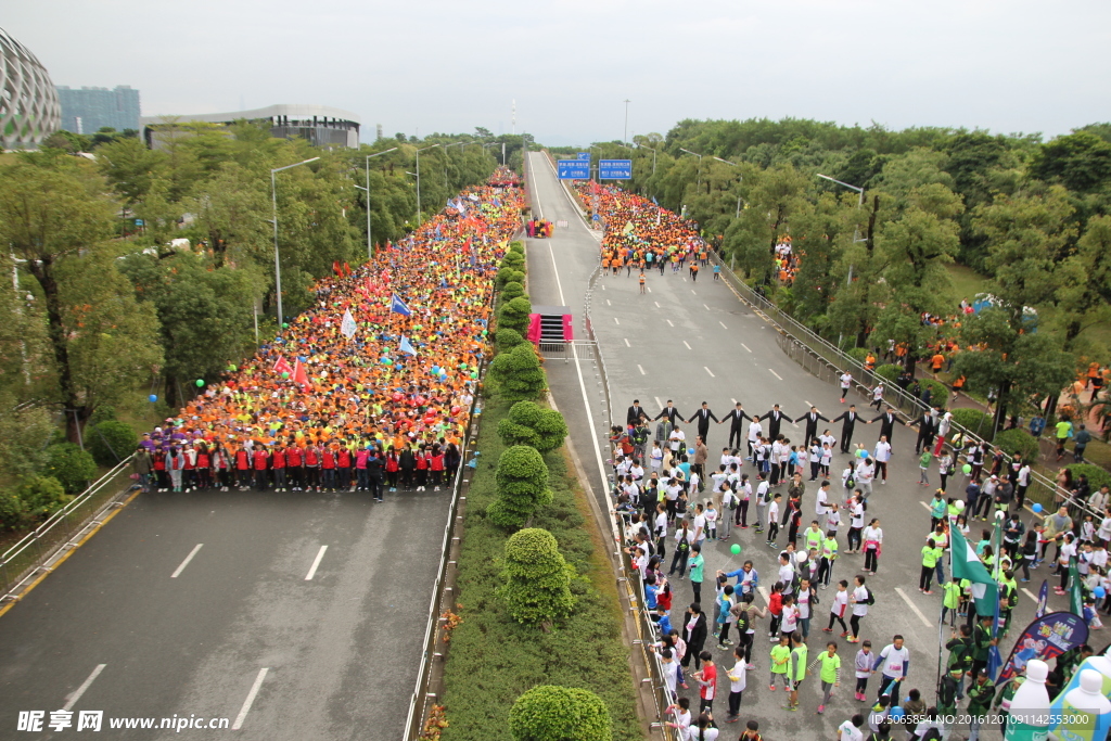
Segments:
[[[518,622],[550,627],[574,609],[574,567],[563,560],[556,538],[547,530],[526,528],[510,535],[504,564],[504,583],[498,591]]]

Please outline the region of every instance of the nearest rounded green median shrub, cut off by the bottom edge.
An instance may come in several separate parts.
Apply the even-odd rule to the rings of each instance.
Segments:
[[[540,684],[513,703],[509,732],[514,741],[610,741],[610,711],[590,690]]]

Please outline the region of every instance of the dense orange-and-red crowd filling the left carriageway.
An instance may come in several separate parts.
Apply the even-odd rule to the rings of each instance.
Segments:
[[[372,261],[319,280],[311,309],[143,435],[141,485],[381,501],[450,482],[487,353],[493,277],[521,227],[510,182],[494,173]]]

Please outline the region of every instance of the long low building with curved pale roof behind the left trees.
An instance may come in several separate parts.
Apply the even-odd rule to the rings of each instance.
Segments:
[[[359,147],[359,116],[328,106],[288,103],[231,113],[144,116],[139,119],[148,147],[158,148],[174,136],[174,124],[202,121],[228,126],[236,121],[263,122],[278,139],[300,137],[317,147]]]

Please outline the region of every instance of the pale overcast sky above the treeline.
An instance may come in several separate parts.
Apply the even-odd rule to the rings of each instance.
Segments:
[[[272,103],[366,133],[482,126],[551,144],[684,118],[812,118],[1047,138],[1111,120],[1107,0],[8,0],[56,84],[143,116]],[[366,138],[366,136],[364,136]]]

